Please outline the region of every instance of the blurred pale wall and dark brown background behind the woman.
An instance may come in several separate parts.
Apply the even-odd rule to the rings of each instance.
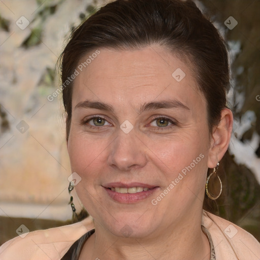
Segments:
[[[0,245],[71,223],[61,96],[55,64],[73,26],[108,0],[0,1]],[[260,2],[196,1],[228,41],[234,129],[220,161],[214,213],[260,241]],[[75,206],[80,203],[74,194]]]

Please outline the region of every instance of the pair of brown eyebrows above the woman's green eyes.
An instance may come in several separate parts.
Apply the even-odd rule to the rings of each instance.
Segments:
[[[114,113],[114,108],[112,106],[104,102],[98,102],[98,101],[93,102],[93,101],[85,100],[83,102],[79,102],[75,106],[75,109],[76,108],[86,108],[86,109],[93,108],[93,109],[99,109],[99,110],[104,110],[104,111]],[[164,100],[158,102],[145,103],[139,107],[138,113],[141,114],[144,111],[156,110],[160,108],[168,108],[168,109],[181,108],[185,110],[190,110],[187,106],[185,106],[178,100]]]

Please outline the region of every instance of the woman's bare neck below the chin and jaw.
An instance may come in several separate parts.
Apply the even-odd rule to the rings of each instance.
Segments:
[[[160,234],[147,238],[122,238],[95,223],[95,233],[85,243],[80,259],[171,259],[208,260],[210,246],[201,229],[200,219],[182,219]]]

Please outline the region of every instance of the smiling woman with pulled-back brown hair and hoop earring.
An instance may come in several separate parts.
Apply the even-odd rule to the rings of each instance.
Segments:
[[[233,116],[225,42],[193,2],[110,3],[61,65],[69,190],[91,217],[15,238],[1,259],[260,258],[255,238],[203,210]]]

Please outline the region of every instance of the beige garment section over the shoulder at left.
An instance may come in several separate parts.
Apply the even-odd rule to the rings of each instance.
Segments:
[[[59,260],[72,244],[94,228],[93,219],[15,237],[0,247],[1,260]]]

